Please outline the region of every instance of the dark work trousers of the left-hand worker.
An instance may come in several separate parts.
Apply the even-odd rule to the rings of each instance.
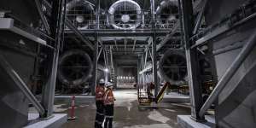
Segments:
[[[102,128],[103,120],[104,120],[104,104],[102,101],[96,101],[95,128]]]

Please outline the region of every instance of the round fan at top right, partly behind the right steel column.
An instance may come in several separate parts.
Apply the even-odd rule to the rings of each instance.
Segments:
[[[178,7],[176,0],[164,0],[155,10],[156,20],[159,24],[166,24],[177,20]]]

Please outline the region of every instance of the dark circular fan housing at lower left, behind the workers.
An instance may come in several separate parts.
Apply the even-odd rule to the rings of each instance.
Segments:
[[[90,78],[92,62],[83,50],[73,49],[60,57],[58,79],[62,84],[77,86]]]

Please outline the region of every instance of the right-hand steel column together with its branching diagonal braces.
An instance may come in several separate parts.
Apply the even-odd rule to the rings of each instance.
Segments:
[[[218,81],[218,84],[212,90],[211,95],[207,98],[207,102],[203,103],[201,100],[201,85],[197,78],[197,68],[196,63],[196,52],[201,50],[198,48],[201,45],[211,43],[213,38],[217,38],[220,35],[230,32],[237,26],[241,26],[249,20],[255,20],[255,1],[250,1],[242,5],[241,8],[236,9],[230,15],[224,17],[224,19],[219,20],[217,24],[208,26],[202,31],[199,31],[199,26],[201,26],[201,20],[203,18],[203,13],[206,8],[207,0],[204,1],[201,12],[196,20],[195,27],[193,26],[193,9],[192,2],[187,0],[179,0],[182,12],[182,23],[183,23],[183,42],[185,44],[188,71],[189,71],[189,91],[191,98],[191,116],[197,121],[204,121],[204,113],[210,108],[213,102],[215,102],[220,94],[221,90],[224,89],[225,85],[234,76],[237,69],[241,66],[241,63],[245,61],[247,55],[253,50],[256,45],[256,32],[253,32],[251,38],[248,39],[247,44],[241,46],[241,44],[236,44],[228,49],[220,49],[220,51],[213,51],[213,55],[219,54],[224,50],[241,48],[241,52],[236,56],[235,61],[230,65],[227,71],[224,73],[222,78]]]

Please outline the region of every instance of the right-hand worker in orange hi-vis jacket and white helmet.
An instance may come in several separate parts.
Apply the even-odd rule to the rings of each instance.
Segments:
[[[113,97],[113,84],[106,84],[107,90],[104,95],[104,106],[105,106],[105,122],[104,128],[112,128],[113,123],[113,101],[115,98]]]

